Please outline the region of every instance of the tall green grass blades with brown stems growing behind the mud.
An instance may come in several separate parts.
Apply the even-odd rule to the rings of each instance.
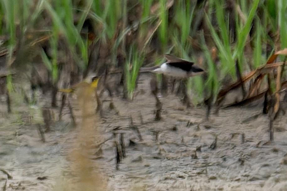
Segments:
[[[273,49],[278,46],[278,43],[274,42],[277,31],[280,34],[280,48],[287,47],[286,1],[233,2],[235,4],[230,12],[225,9],[226,1],[224,0],[210,0],[208,3],[201,4],[197,1],[184,0],[141,0],[134,4],[126,0],[86,0],[81,4],[76,4],[77,1],[71,0],[19,2],[3,0],[0,2],[0,34],[9,36],[5,48],[9,50],[10,61],[8,63],[12,63],[13,52],[20,40],[17,27],[20,26],[20,34],[23,36],[32,29],[49,31],[51,36],[48,43],[51,47],[51,58],[43,51],[40,51],[40,55],[47,70],[51,73],[51,79],[56,83],[61,55],[59,53],[60,39],[64,39],[68,44],[68,50],[78,67],[86,70],[88,49],[91,43],[80,33],[85,19],[91,18],[96,34],[94,41],[101,39],[101,42],[106,43],[107,47],[112,50],[110,59],[113,64],[117,63],[117,54],[122,51],[121,54],[123,53],[126,59],[124,68],[126,82],[132,84],[136,80],[136,75],[130,75],[129,72],[138,73],[138,68],[144,62],[143,59],[148,51],[156,50],[156,54],[160,55],[171,52],[185,59],[197,60],[199,55],[194,51],[192,43],[199,40],[199,29],[204,29],[205,39],[199,40],[202,43],[199,43],[199,48],[205,59],[205,69],[209,73],[209,79],[213,79],[216,82],[216,89],[220,89],[221,81],[226,76],[230,76],[231,80],[236,79],[236,59],[239,60],[241,72],[255,69],[265,63],[268,57],[266,54],[269,52],[266,52],[264,48],[268,45],[273,46]],[[141,16],[137,18],[138,21],[128,23],[128,16],[131,16],[130,10],[135,6],[141,7],[139,9]],[[46,22],[43,19],[44,12],[48,13],[45,17],[49,17],[51,23],[46,26],[44,24],[43,28],[43,25],[39,23]],[[233,14],[232,18],[230,13]],[[235,22],[235,41],[231,39],[230,19],[234,19]],[[153,31],[155,23],[160,23],[160,25]],[[134,42],[132,45],[126,44],[127,36],[131,33],[137,33],[134,35]],[[157,38],[152,39],[155,33]],[[211,36],[211,40],[206,41],[207,36]],[[149,44],[151,40],[157,47]],[[251,51],[246,52],[247,45],[250,44]],[[216,68],[211,63],[209,53],[211,46],[214,45],[218,49],[220,60]],[[159,59],[155,59],[155,63],[157,63],[156,60]],[[131,64],[132,66],[129,66],[131,70],[128,72],[127,65]],[[209,81],[207,80],[207,83]],[[204,82],[201,77],[193,78],[190,83],[194,84],[191,89],[194,89],[199,97],[202,96]],[[135,86],[130,85],[131,89],[132,87]],[[218,90],[214,91],[218,92]]]

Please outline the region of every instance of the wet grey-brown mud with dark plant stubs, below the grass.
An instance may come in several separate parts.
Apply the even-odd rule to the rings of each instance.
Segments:
[[[269,143],[262,103],[221,109],[205,120],[205,107],[186,108],[175,95],[160,98],[162,120],[154,121],[151,75],[142,75],[134,101],[102,96],[103,117],[83,117],[73,98],[77,126],[68,108],[41,141],[39,97],[25,106],[12,95],[12,114],[1,102],[1,190],[287,190],[287,119],[274,123]],[[93,104],[88,104],[93,106]],[[94,108],[94,106],[93,106]],[[130,117],[133,126],[130,126]],[[140,132],[138,134],[137,128]],[[122,133],[126,157],[116,169],[115,144]]]

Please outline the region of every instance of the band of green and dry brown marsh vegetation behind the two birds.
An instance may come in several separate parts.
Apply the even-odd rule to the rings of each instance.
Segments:
[[[89,59],[98,43],[98,50],[108,52],[103,64],[123,72],[130,99],[139,68],[150,64],[147,60],[160,64],[164,53],[203,60],[199,65],[207,79],[197,76],[188,82],[194,101],[201,102],[205,90],[216,97],[224,79],[236,80],[235,60],[244,73],[287,47],[286,12],[285,0],[2,0],[0,37],[6,40],[1,40],[0,51],[6,51],[2,56],[12,68],[19,67],[19,60],[21,65],[42,63],[56,85],[61,65],[70,68],[65,72],[78,68],[78,74],[95,70]],[[9,87],[11,83],[9,77]]]

